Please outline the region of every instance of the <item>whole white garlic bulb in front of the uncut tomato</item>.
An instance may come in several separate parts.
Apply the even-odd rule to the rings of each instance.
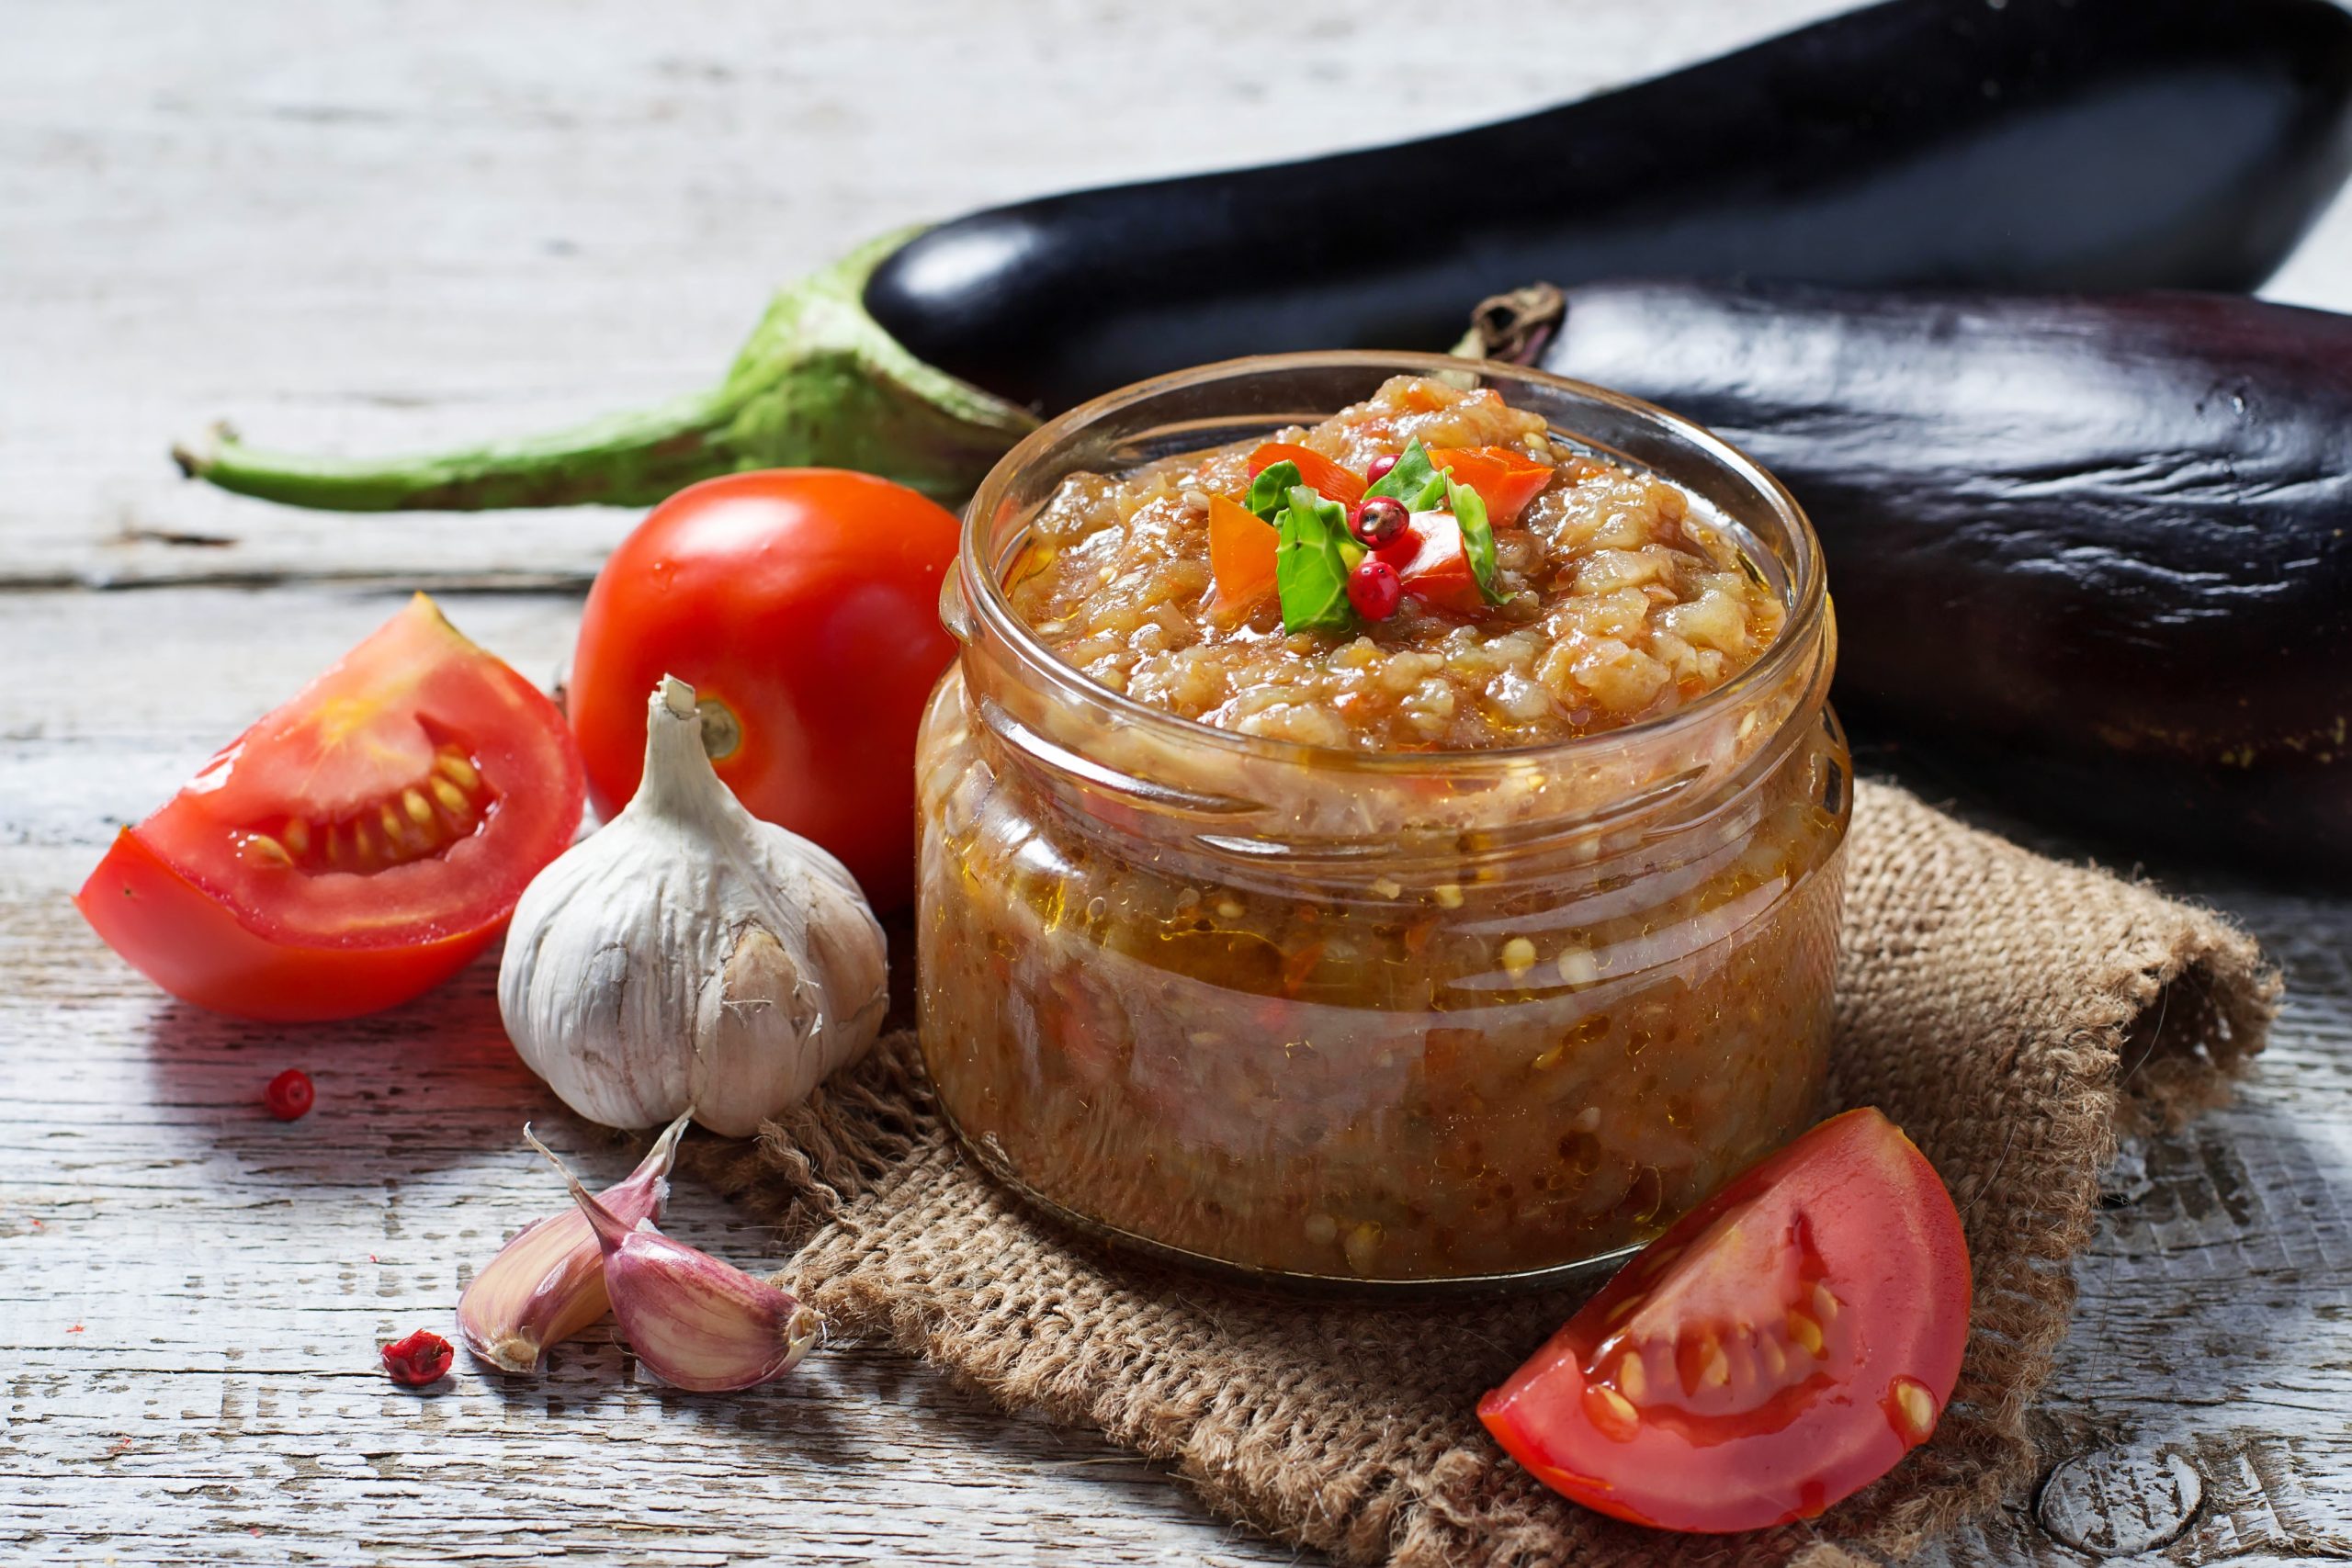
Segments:
[[[499,966],[515,1051],[590,1121],[691,1110],[743,1138],[863,1053],[887,1006],[882,924],[858,884],[736,802],[694,689],[663,677],[635,799],[515,905]]]

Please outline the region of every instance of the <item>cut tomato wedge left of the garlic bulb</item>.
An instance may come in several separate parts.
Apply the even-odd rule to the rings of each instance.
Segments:
[[[416,595],[125,827],[73,903],[183,1001],[353,1018],[463,969],[579,820],[555,703]]]

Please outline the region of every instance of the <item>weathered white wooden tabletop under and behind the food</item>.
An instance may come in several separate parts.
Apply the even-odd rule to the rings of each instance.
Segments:
[[[993,197],[1404,136],[1825,0],[0,0],[0,1556],[40,1563],[1279,1563],[1082,1432],[849,1352],[701,1399],[597,1331],[543,1382],[376,1345],[557,1204],[492,969],[353,1025],[158,997],[66,905],[106,837],[409,588],[553,675],[626,512],[313,517],[179,484],[524,430],[713,376],[771,282]],[[2352,308],[2352,209],[2277,294]],[[2154,867],[2164,870],[2164,867]],[[2352,903],[2206,886],[2291,1004],[2241,1103],[2117,1182],[2056,1479],[1943,1556],[2352,1554]],[[303,1067],[303,1121],[261,1086]],[[691,1187],[675,1227],[764,1232]],[[2190,1493],[2197,1497],[2190,1500]],[[2051,1530],[2058,1530],[2058,1537]]]

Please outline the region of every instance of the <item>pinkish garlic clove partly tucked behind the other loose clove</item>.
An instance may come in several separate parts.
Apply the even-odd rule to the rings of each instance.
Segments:
[[[689,1117],[677,1117],[637,1168],[616,1187],[607,1187],[602,1206],[626,1225],[659,1220],[670,1197],[670,1161]],[[546,1154],[546,1145],[522,1128],[524,1140]],[[553,1159],[553,1154],[548,1154]],[[473,1276],[456,1300],[459,1338],[482,1361],[503,1373],[539,1373],[548,1347],[569,1340],[612,1309],[604,1295],[604,1248],[588,1215],[574,1204],[560,1215],[534,1220],[515,1232],[489,1265]]]

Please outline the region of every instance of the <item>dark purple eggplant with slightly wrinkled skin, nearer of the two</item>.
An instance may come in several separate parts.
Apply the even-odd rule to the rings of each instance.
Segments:
[[[1569,289],[1541,364],[1788,484],[1858,738],[2117,844],[2352,875],[2352,317],[1625,282]]]

